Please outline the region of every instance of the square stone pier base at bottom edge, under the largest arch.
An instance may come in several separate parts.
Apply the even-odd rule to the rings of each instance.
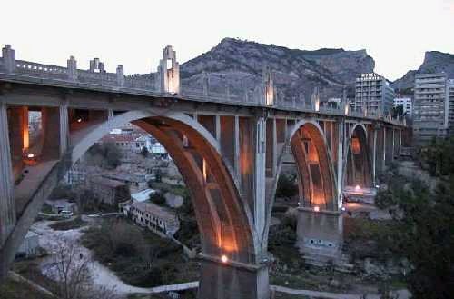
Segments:
[[[199,299],[269,299],[266,265],[222,264],[202,260]]]

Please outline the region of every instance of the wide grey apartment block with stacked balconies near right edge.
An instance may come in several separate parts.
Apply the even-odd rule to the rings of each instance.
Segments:
[[[414,142],[415,145],[428,145],[433,137],[448,134],[448,76],[445,73],[417,74],[414,90]]]

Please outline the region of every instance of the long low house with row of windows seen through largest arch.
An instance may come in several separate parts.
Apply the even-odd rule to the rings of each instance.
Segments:
[[[176,214],[150,202],[133,202],[129,213],[136,224],[155,233],[173,236],[180,228]]]

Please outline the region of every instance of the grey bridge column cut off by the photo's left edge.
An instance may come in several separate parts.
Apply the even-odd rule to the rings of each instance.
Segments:
[[[13,166],[8,134],[6,105],[0,100],[0,246],[3,247],[15,225]],[[8,272],[7,264],[0,264],[0,279]]]

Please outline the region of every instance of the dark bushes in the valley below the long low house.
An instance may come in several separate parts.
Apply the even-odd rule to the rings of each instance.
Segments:
[[[105,220],[83,236],[94,258],[126,284],[153,287],[196,280],[197,265],[183,257],[183,248],[118,218]]]

